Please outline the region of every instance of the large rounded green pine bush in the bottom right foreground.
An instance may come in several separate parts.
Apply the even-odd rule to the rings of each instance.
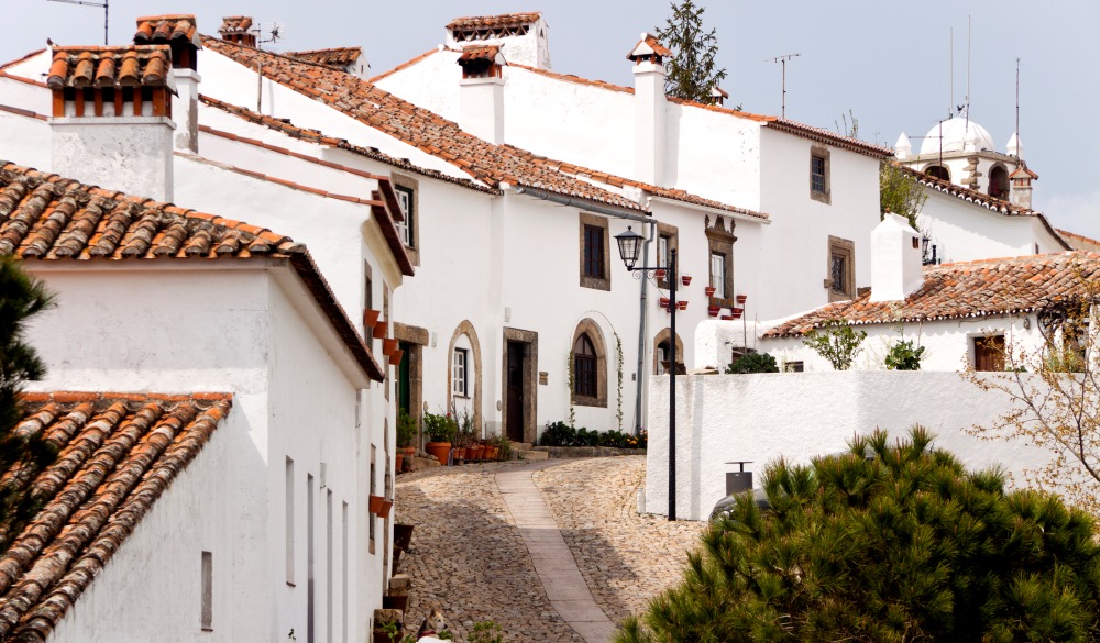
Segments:
[[[850,454],[780,461],[767,502],[737,498],[683,580],[619,643],[1100,640],[1100,544],[1088,513],[1007,492],[916,428]]]

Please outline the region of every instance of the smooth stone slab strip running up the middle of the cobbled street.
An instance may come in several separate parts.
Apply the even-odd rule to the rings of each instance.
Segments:
[[[586,643],[606,643],[615,625],[592,598],[558,523],[531,479],[535,470],[556,464],[560,463],[544,461],[499,473],[496,486],[519,528],[550,605]]]

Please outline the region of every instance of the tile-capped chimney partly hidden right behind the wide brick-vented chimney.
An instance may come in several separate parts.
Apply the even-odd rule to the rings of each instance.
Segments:
[[[168,45],[172,75],[176,81],[173,113],[176,117],[176,149],[199,149],[198,52],[202,48],[194,15],[150,15],[138,19],[134,44]]]

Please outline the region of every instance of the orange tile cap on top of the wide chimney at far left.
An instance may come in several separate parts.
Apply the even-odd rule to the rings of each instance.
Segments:
[[[172,49],[166,45],[54,47],[46,85],[64,87],[165,87]]]

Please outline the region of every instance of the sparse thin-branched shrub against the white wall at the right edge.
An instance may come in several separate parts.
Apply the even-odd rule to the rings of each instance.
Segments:
[[[963,372],[967,381],[1007,396],[1011,408],[971,433],[1019,440],[1048,451],[1045,466],[1024,472],[1040,489],[1065,494],[1100,517],[1100,285],[1075,277],[1077,297],[1046,302],[1038,313],[1042,345],[1007,340],[1004,373]]]

